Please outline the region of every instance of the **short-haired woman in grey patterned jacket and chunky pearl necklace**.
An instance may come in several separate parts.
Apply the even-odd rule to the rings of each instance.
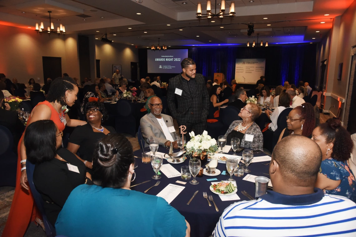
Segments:
[[[242,120],[232,122],[227,129],[226,141],[231,141],[231,138],[239,138],[240,146],[246,149],[263,150],[263,135],[260,127],[254,122],[261,113],[261,108],[257,104],[246,104],[239,113]]]

